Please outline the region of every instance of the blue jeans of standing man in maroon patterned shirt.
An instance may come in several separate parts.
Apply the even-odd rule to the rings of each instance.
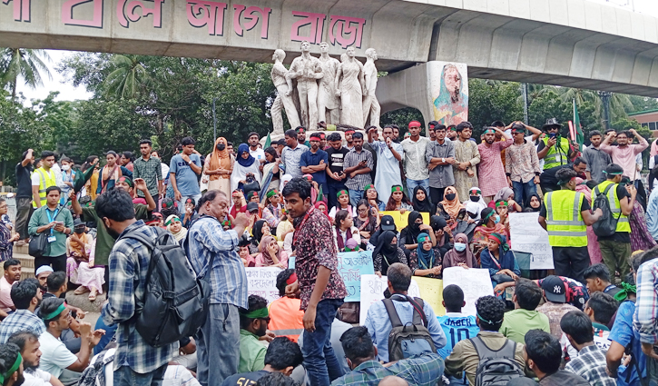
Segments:
[[[313,386],[329,386],[331,381],[344,375],[334,349],[331,348],[331,323],[342,303],[342,299],[320,301],[315,314],[315,331],[305,331],[303,334],[301,353],[304,355],[304,368]]]

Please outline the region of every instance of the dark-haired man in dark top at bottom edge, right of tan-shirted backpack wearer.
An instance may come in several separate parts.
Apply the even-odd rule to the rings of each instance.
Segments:
[[[562,347],[548,332],[530,330],[525,334],[526,366],[535,372],[539,386],[589,386],[580,375],[560,370]]]

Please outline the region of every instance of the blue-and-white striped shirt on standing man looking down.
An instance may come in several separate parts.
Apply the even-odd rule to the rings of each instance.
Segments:
[[[192,223],[188,231],[189,245],[185,251],[194,271],[205,274],[211,256],[211,303],[228,303],[249,308],[247,298],[247,273],[235,252],[238,249],[238,233],[224,231],[216,218],[203,215]]]

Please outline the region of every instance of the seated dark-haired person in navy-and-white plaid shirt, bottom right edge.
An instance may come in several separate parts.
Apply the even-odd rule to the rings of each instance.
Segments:
[[[605,351],[594,344],[592,321],[587,315],[582,311],[569,312],[562,318],[560,326],[569,343],[578,351],[578,356],[566,363],[565,371],[580,375],[592,386],[615,386],[617,382],[605,373]]]

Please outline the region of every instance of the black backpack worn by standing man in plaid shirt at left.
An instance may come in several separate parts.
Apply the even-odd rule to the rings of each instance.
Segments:
[[[201,328],[208,315],[211,287],[197,278],[172,233],[154,229],[155,242],[138,232],[125,233],[121,239],[137,240],[151,251],[144,297],[133,318],[144,341],[162,347]]]

